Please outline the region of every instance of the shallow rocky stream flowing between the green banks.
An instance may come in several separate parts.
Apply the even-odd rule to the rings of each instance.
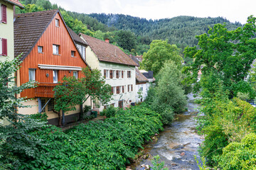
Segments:
[[[142,164],[151,166],[151,159],[157,154],[169,169],[199,169],[194,155],[199,158],[198,147],[203,142],[203,137],[196,133],[195,117],[198,113],[198,105],[193,102],[194,99],[193,94],[188,95],[188,111],[176,115],[176,120],[160,132],[159,140],[154,145],[146,147],[145,152],[151,157],[133,165],[132,169],[144,169]]]

